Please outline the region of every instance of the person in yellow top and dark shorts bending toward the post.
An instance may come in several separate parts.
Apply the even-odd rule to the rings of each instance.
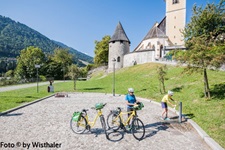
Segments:
[[[163,98],[162,98],[162,119],[164,120],[170,120],[170,118],[168,118],[168,106],[167,103],[169,103],[170,105],[172,105],[173,107],[175,107],[175,105],[173,105],[170,100],[175,101],[173,98],[173,92],[172,91],[168,91],[168,94],[166,94]],[[166,116],[164,117],[164,114],[166,114]]]

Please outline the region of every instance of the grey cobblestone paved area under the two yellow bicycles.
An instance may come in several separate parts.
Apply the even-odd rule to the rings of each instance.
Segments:
[[[107,103],[103,109],[106,115],[117,106],[124,107],[124,95],[99,93],[69,93],[69,97],[50,97],[0,117],[0,149],[8,146],[14,149],[76,150],[209,150],[195,129],[188,123],[162,122],[159,119],[161,107],[158,103],[140,99],[145,107],[139,111],[139,118],[146,127],[145,138],[134,139],[130,133],[108,131],[107,140],[101,130],[100,121],[92,128],[92,133],[75,134],[70,129],[70,119],[74,111],[89,108],[90,119],[95,111],[90,109],[95,103]],[[125,107],[124,107],[125,108]],[[169,112],[170,116],[176,116]],[[9,144],[8,144],[9,143]],[[26,145],[28,144],[28,145]],[[35,144],[38,148],[34,148]],[[41,148],[45,147],[45,148]],[[50,148],[46,148],[50,149]]]

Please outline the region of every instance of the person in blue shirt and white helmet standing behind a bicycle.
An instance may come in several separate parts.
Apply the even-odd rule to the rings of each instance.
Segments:
[[[125,100],[126,100],[126,104],[127,104],[127,112],[132,111],[134,105],[136,105],[139,102],[134,95],[133,88],[128,89],[128,94],[126,95]],[[130,116],[130,114],[131,113],[128,113],[128,117]],[[128,124],[129,124],[129,122],[128,122]]]

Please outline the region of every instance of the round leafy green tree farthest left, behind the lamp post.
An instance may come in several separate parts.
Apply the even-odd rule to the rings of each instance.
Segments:
[[[35,65],[42,66],[45,64],[45,55],[40,48],[30,46],[21,50],[20,56],[17,57],[17,62],[15,75],[19,78],[29,80],[36,77]]]

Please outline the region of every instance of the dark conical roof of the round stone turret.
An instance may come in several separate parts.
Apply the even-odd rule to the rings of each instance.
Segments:
[[[130,44],[130,40],[128,39],[123,29],[123,26],[120,22],[118,23],[116,30],[109,42],[114,42],[114,41],[127,41]]]

